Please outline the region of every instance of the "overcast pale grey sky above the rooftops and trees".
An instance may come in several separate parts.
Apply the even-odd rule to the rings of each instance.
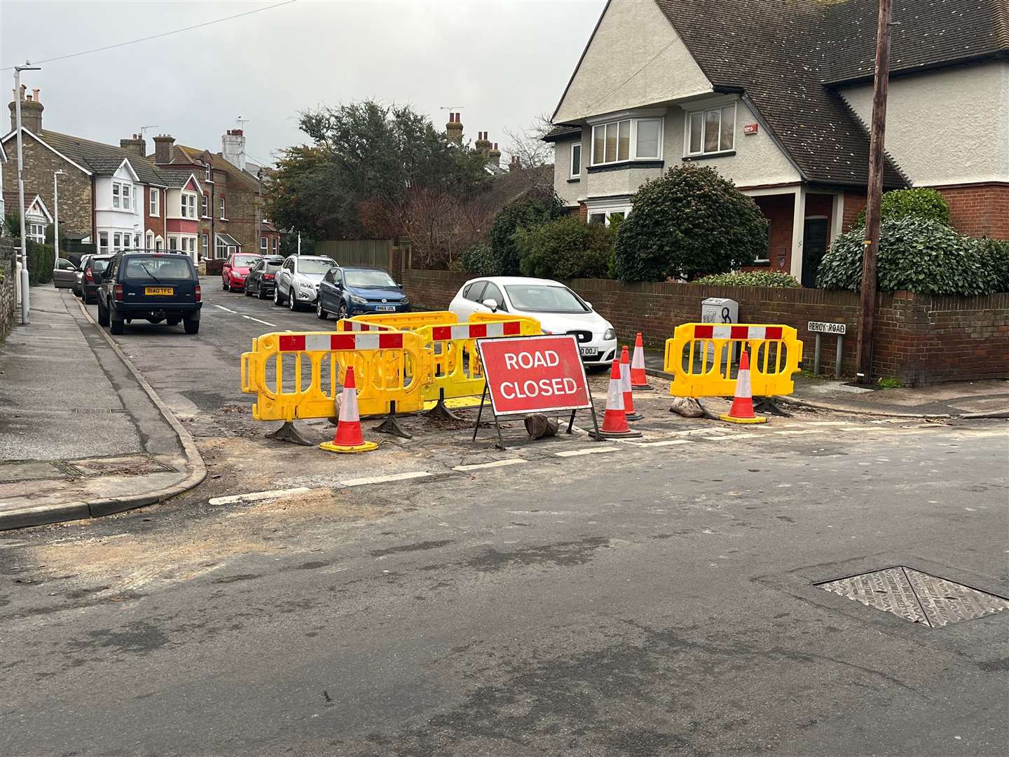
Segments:
[[[0,67],[148,36],[272,2],[0,0]],[[410,103],[439,126],[460,106],[466,137],[551,113],[604,0],[297,0],[116,49],[43,64],[43,127],[118,144],[141,126],[221,149],[248,119],[249,154],[303,141],[297,113],[367,97]],[[13,72],[2,71],[2,91]],[[3,112],[4,125],[8,111]],[[7,129],[4,128],[4,131]]]

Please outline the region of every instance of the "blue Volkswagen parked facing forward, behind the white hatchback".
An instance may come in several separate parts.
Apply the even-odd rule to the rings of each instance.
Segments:
[[[409,313],[410,300],[403,287],[381,268],[337,265],[319,284],[316,315],[340,318],[372,313]]]

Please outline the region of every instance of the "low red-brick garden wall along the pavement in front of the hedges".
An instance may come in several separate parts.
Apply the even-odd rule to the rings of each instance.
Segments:
[[[403,284],[419,307],[445,310],[466,274],[446,271],[403,272]],[[814,335],[808,321],[848,326],[842,374],[855,374],[859,318],[856,292],[815,289],[709,287],[689,284],[621,284],[605,279],[575,279],[571,288],[602,313],[622,340],[641,331],[661,346],[681,323],[700,319],[700,302],[725,297],[740,303],[744,323],[781,323],[798,330],[804,364],[812,367]],[[879,298],[876,316],[877,375],[908,385],[944,381],[1009,377],[1009,294],[989,297],[922,297],[907,292]],[[820,370],[833,372],[834,337],[822,338]]]

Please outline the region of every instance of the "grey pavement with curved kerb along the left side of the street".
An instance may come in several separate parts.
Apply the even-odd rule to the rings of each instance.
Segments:
[[[32,303],[31,324],[0,349],[0,529],[119,512],[195,485],[204,468],[188,434],[77,299],[36,287]]]

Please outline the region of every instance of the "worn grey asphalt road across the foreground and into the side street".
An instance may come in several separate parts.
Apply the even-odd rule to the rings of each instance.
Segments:
[[[207,294],[198,336],[119,339],[197,416],[252,318],[315,322]],[[1005,754],[1009,613],[814,585],[1009,596],[1005,424],[830,423],[234,506],[271,452],[207,437],[238,478],[0,535],[0,754]]]

